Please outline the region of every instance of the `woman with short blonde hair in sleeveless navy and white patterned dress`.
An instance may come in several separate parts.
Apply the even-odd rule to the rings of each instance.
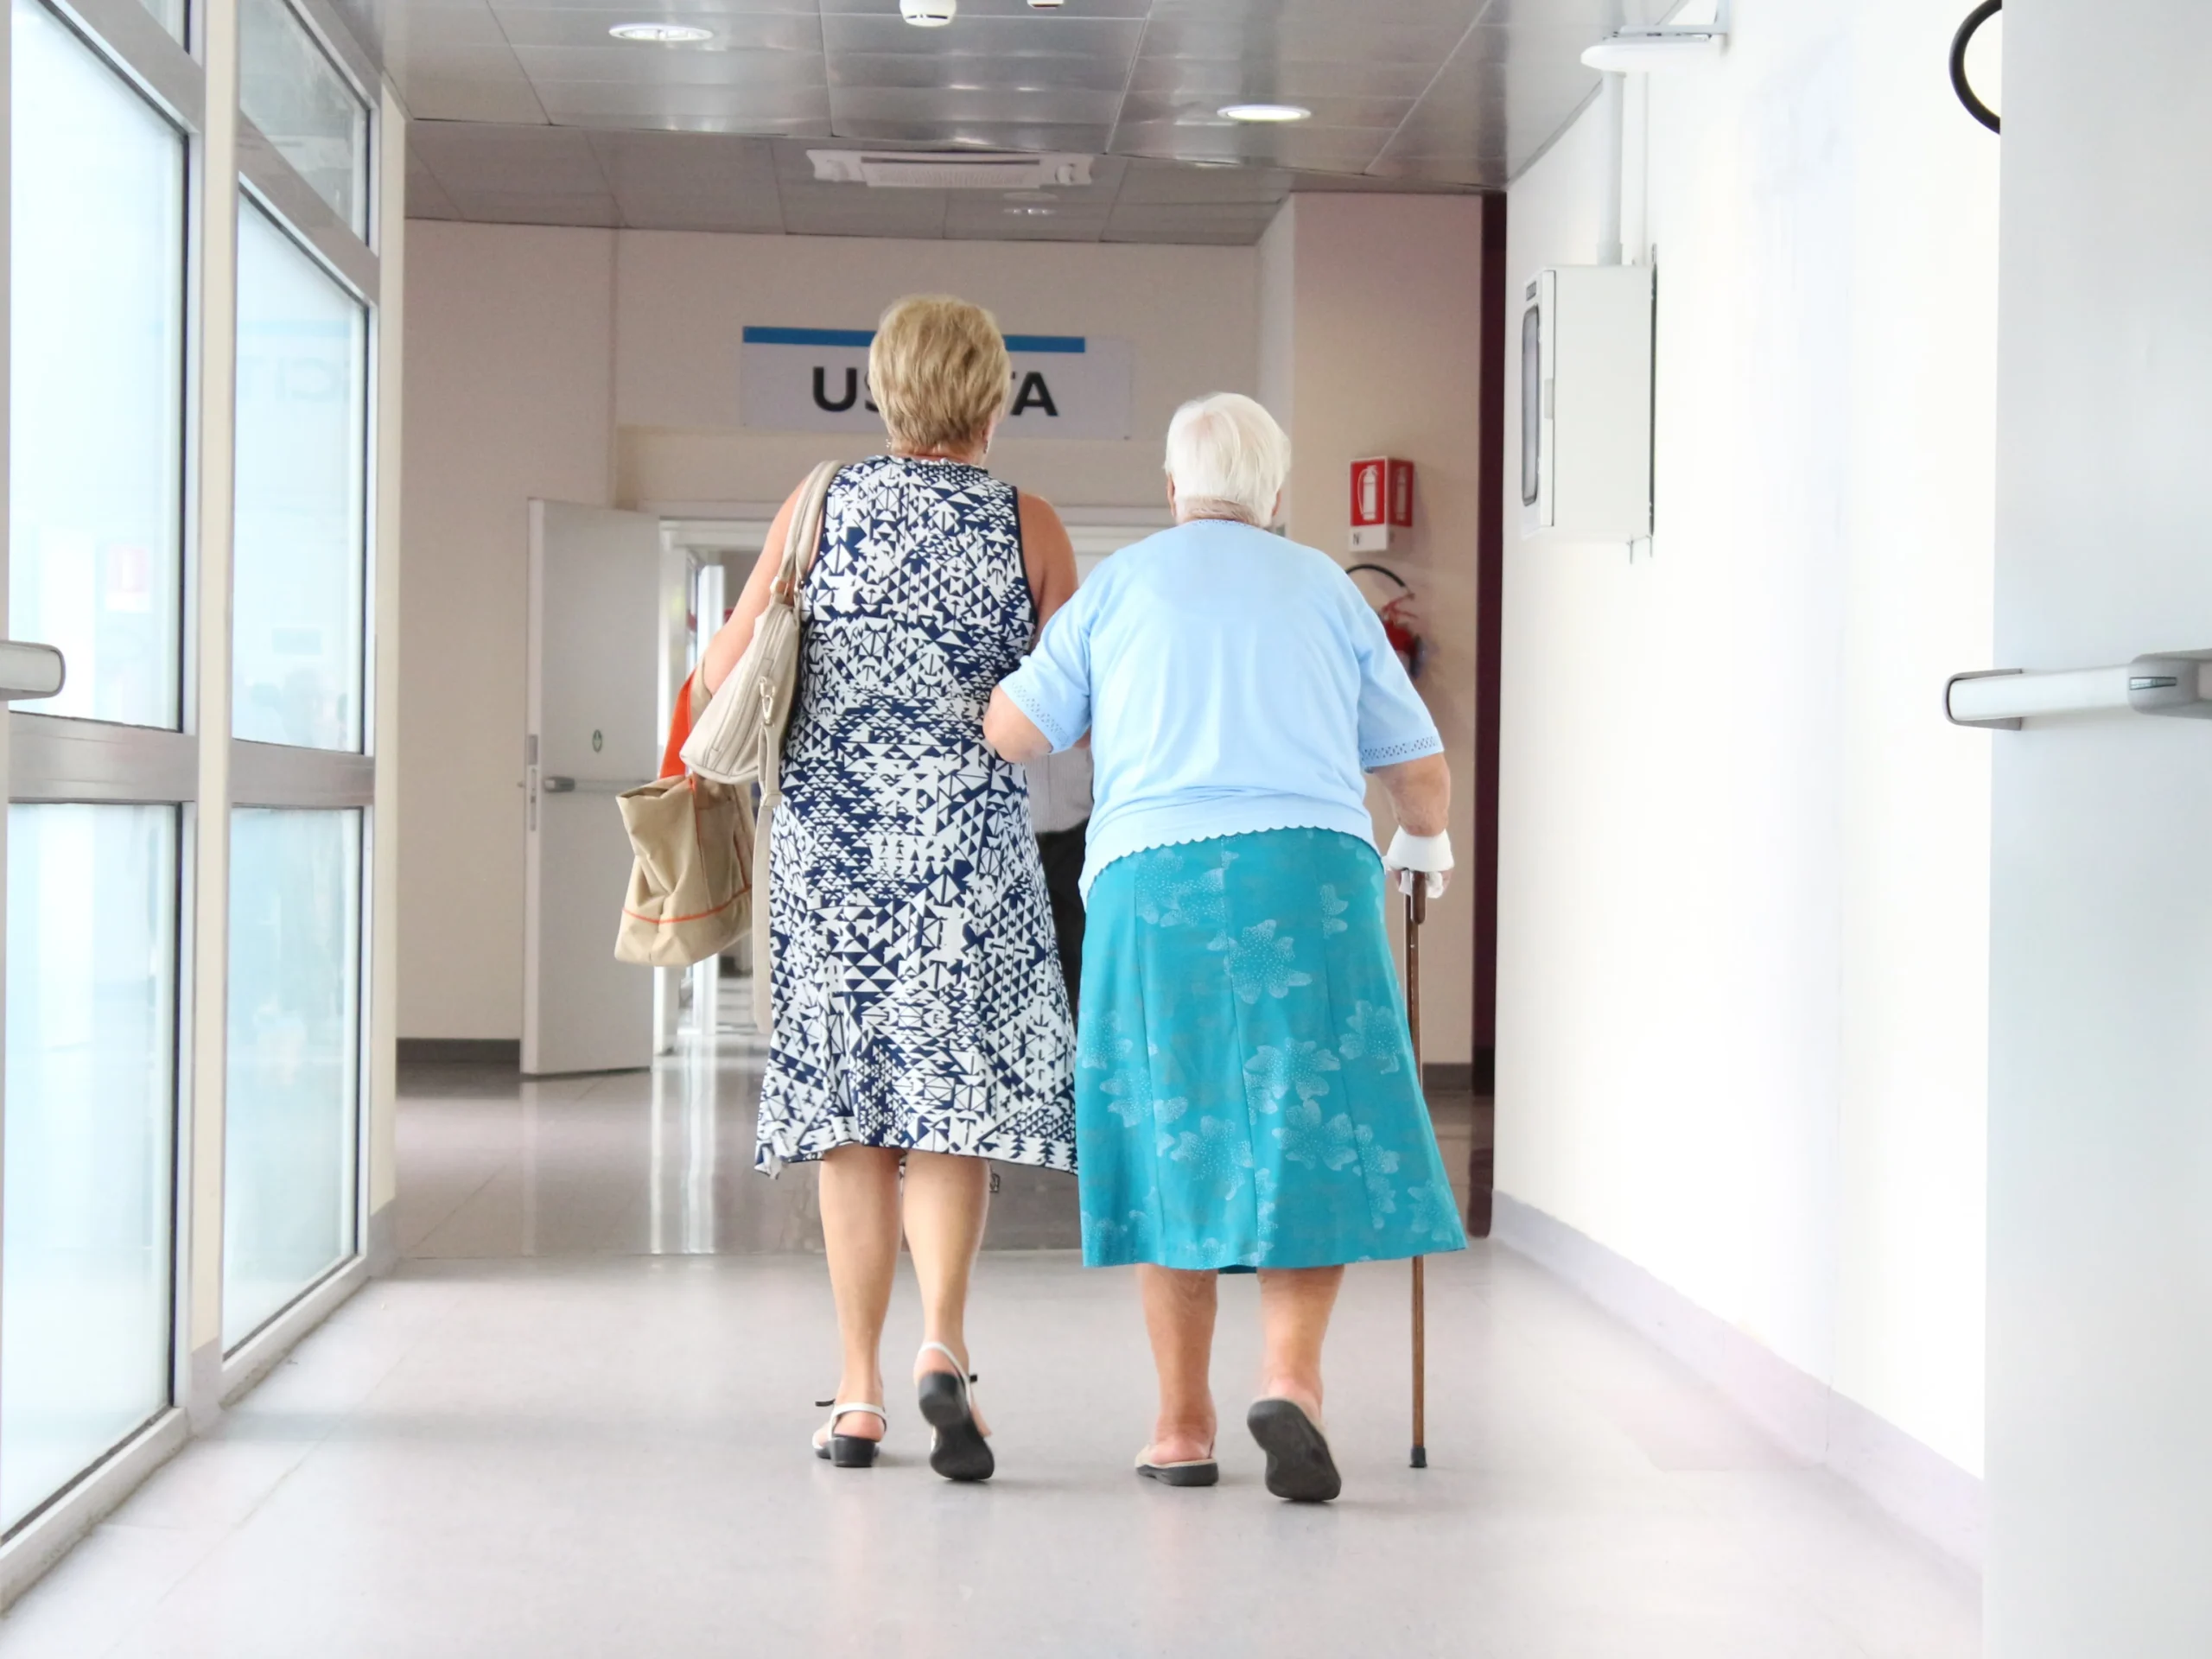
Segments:
[[[1075,1115],[1044,869],[1022,779],[984,745],[982,712],[1075,593],[1075,551],[1051,504],[982,469],[1011,380],[989,312],[902,299],[883,314],[867,372],[889,451],[830,484],[799,595],[754,1161],[768,1172],[821,1161],[845,1358],[816,1453],[841,1469],[876,1460],[878,1347],[905,1223],[929,1462],[949,1480],[987,1480],[964,1332],[987,1159],[1068,1170]],[[768,606],[796,495],[708,646],[708,688]]]

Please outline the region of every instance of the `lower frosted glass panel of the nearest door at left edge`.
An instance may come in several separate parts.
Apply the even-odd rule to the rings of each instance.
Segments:
[[[9,807],[0,1528],[170,1398],[177,810]]]

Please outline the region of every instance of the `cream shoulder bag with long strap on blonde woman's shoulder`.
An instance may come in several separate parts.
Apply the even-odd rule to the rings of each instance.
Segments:
[[[792,723],[792,701],[799,695],[799,591],[814,568],[814,549],[823,540],[823,502],[836,476],[838,462],[825,460],[799,491],[776,580],[768,588],[768,608],[752,626],[752,644],[730,677],[714,688],[714,699],[684,743],[684,765],[699,776],[761,785],[752,841],[752,1018],[763,1033],[770,1029],[768,991],[774,967],[768,927],[768,836],[776,799],[783,794],[783,732]]]

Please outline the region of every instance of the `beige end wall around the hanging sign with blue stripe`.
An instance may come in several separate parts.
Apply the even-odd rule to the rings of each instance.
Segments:
[[[409,226],[400,1035],[522,1031],[526,502],[781,500],[863,440],[737,427],[745,323],[869,327],[907,292],[1015,332],[1130,338],[1128,442],[1009,440],[1062,507],[1164,507],[1175,405],[1256,385],[1250,248]],[[608,927],[613,927],[613,898]]]

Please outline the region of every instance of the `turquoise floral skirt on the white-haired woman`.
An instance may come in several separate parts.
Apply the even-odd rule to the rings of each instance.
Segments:
[[[1460,1250],[1383,927],[1332,830],[1117,858],[1077,1018],[1084,1263],[1334,1267]]]

